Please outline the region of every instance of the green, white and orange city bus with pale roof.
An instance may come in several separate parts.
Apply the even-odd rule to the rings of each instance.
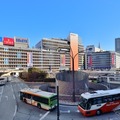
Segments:
[[[40,89],[24,88],[20,90],[20,100],[45,110],[52,110],[57,106],[57,94]]]

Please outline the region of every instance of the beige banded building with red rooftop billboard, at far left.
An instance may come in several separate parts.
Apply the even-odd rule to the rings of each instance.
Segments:
[[[29,48],[28,39],[0,37],[0,69],[40,67],[40,54]]]

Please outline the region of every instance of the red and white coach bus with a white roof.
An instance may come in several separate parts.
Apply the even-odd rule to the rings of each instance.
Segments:
[[[78,110],[84,116],[100,115],[120,109],[120,88],[82,93]]]

